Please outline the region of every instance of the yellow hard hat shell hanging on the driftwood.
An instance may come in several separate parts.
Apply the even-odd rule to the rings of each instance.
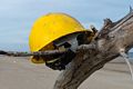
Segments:
[[[31,51],[53,49],[52,42],[70,33],[91,31],[65,13],[48,13],[39,18],[31,30],[29,46]],[[32,59],[32,62],[38,58]],[[40,60],[42,62],[43,60]]]

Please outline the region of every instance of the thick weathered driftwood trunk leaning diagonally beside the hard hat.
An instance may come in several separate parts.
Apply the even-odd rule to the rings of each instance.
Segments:
[[[90,49],[91,44],[94,49]],[[98,38],[80,47],[76,57],[59,76],[53,89],[78,89],[94,71],[133,47],[133,11],[116,22],[106,19]],[[88,50],[86,50],[88,48]]]

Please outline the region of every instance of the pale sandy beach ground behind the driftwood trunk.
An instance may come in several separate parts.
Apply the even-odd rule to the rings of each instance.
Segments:
[[[0,89],[52,89],[60,71],[33,65],[28,58],[0,57]],[[122,58],[105,65],[79,89],[133,89],[129,68]]]

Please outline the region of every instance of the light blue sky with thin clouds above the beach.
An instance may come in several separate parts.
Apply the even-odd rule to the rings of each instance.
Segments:
[[[0,0],[0,50],[29,51],[33,22],[49,12],[64,12],[85,28],[102,28],[103,19],[116,21],[133,7],[133,0]]]

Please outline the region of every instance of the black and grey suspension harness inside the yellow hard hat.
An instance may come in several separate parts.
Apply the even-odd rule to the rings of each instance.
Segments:
[[[53,70],[64,70],[65,66],[75,57],[78,46],[90,42],[90,40],[86,41],[89,33],[91,32],[73,33],[53,41],[54,48],[68,51],[63,55],[53,57],[51,60],[45,61],[45,65]]]

